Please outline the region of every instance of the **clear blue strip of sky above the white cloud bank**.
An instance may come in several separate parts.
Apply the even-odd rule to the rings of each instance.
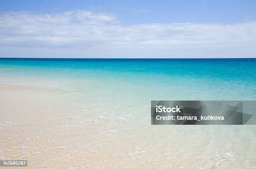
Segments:
[[[235,23],[256,18],[255,0],[2,0],[1,11],[115,13],[126,24]],[[140,14],[140,15],[138,15]]]

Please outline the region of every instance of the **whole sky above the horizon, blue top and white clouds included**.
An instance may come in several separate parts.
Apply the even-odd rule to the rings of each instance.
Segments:
[[[255,0],[1,0],[0,57],[256,58]]]

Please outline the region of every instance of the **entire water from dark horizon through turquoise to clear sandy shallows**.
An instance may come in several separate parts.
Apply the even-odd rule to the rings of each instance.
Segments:
[[[254,125],[150,125],[151,100],[256,100],[256,58],[0,58],[0,95],[2,159],[256,167]]]

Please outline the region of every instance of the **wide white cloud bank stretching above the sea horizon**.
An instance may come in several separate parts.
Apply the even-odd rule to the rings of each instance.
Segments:
[[[256,22],[233,24],[170,23],[124,25],[115,15],[92,13],[85,10],[57,14],[31,12],[0,13],[0,47],[6,55],[7,48],[77,48],[82,54],[104,57],[139,55],[151,50],[157,56],[166,50],[166,55],[189,49],[187,54],[196,55],[191,49],[232,49],[232,46],[256,44]],[[222,46],[222,47],[220,47]],[[172,50],[171,50],[172,49]],[[113,52],[116,50],[117,52]],[[251,50],[251,49],[249,49]],[[190,52],[190,53],[189,53]],[[192,53],[191,53],[192,52]],[[242,52],[242,49],[241,49]],[[59,52],[61,57],[61,52]],[[181,51],[182,53],[182,51]],[[228,51],[225,51],[227,54]],[[230,55],[234,54],[230,50]],[[248,51],[247,51],[248,53]],[[29,54],[29,53],[28,53]],[[186,54],[186,53],[184,53]],[[220,53],[217,52],[220,55]],[[256,54],[252,50],[249,55]],[[102,55],[102,56],[101,56]],[[58,56],[58,55],[56,55]],[[255,55],[254,55],[255,57]]]

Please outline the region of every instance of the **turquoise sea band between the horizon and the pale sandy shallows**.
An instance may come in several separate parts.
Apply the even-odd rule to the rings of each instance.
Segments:
[[[14,77],[20,85],[90,93],[101,101],[256,99],[256,58],[0,58],[1,81]]]

